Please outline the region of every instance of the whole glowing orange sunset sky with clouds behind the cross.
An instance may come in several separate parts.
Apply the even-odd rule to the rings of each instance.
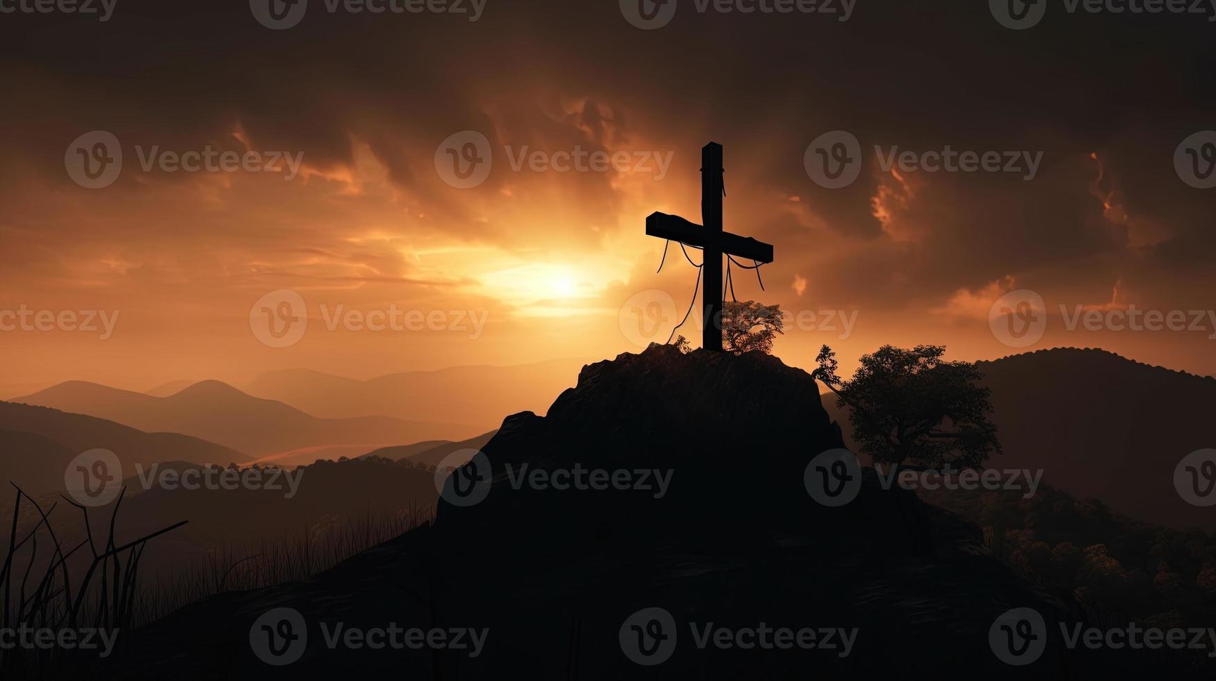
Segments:
[[[766,291],[736,270],[736,294],[803,313],[776,344],[787,364],[811,366],[824,343],[846,367],[885,343],[969,360],[1076,345],[1216,372],[1216,315],[1156,332],[1069,331],[1058,315],[1216,308],[1216,188],[1188,186],[1173,161],[1184,139],[1216,129],[1216,24],[1057,12],[1010,30],[983,1],[858,0],[838,18],[699,13],[686,0],[654,30],[613,1],[488,0],[469,21],[330,13],[313,0],[285,30],[246,0],[119,0],[106,22],[0,15],[0,310],[118,313],[105,339],[0,331],[0,398],[66,379],[148,389],[271,368],[367,378],[637,351],[627,315],[665,300],[643,292],[665,292],[664,314],[680,317],[696,280],[674,247],[655,274],[664,243],[644,236],[644,218],[700,221],[708,141],[725,147],[726,229],[776,251]],[[95,130],[119,140],[123,169],[85,188],[64,159]],[[469,130],[492,165],[458,188],[440,175],[441,145]],[[837,190],[804,167],[833,130],[865,157]],[[1042,161],[1029,181],[905,173],[883,169],[876,145]],[[285,167],[145,171],[152,147],[303,164],[289,180]],[[524,150],[646,163],[516,170]],[[655,158],[670,158],[665,175]],[[281,289],[309,321],[274,348],[250,309]],[[1051,313],[1024,349],[989,325],[1015,289]],[[465,321],[328,331],[338,305]],[[698,322],[681,333],[699,339]]]

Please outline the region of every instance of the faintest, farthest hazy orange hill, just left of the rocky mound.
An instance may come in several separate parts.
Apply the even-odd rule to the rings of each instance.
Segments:
[[[569,359],[519,366],[457,366],[368,381],[294,368],[268,371],[244,389],[327,418],[383,413],[449,422],[452,415],[460,415],[461,423],[479,426],[480,433],[497,427],[507,413],[544,412],[553,395],[570,387],[582,364]]]

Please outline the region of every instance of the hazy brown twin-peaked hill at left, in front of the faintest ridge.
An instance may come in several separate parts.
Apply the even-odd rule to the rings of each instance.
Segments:
[[[323,448],[343,446],[362,452],[382,445],[460,439],[482,432],[471,426],[387,416],[316,418],[219,381],[195,383],[164,398],[72,381],[15,401],[96,416],[142,430],[193,435],[280,463],[323,458],[328,454]]]

